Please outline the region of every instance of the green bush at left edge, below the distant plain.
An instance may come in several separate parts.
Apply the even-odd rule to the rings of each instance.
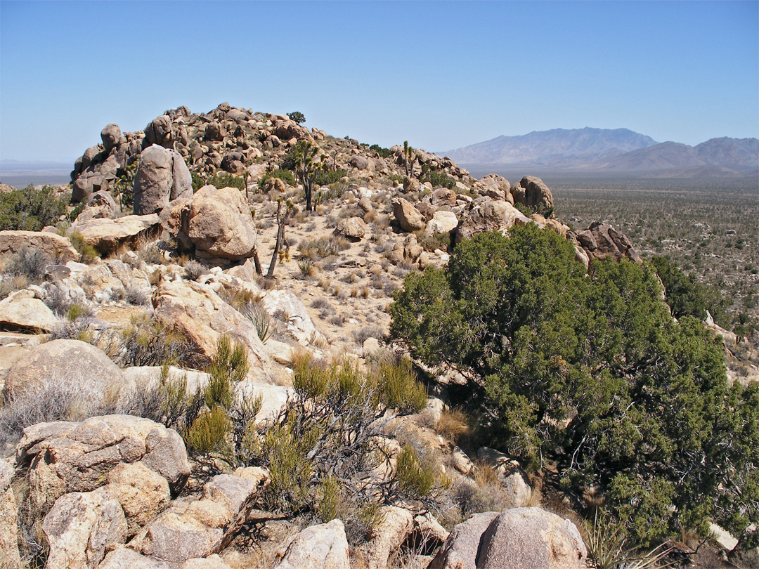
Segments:
[[[58,198],[50,186],[27,186],[0,194],[0,231],[40,231],[65,215],[68,200]]]

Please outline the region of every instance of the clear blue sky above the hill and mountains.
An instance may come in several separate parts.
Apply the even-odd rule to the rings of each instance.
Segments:
[[[0,159],[219,102],[447,150],[550,128],[759,136],[759,2],[0,2]]]

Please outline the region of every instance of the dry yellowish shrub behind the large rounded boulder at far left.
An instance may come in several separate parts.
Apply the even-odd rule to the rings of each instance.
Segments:
[[[178,329],[145,315],[133,316],[128,328],[121,333],[115,360],[122,367],[168,363],[198,368],[204,363],[197,347]]]

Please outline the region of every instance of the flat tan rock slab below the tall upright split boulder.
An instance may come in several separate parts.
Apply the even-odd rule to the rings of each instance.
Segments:
[[[102,255],[113,253],[122,244],[134,244],[140,237],[150,237],[159,230],[159,217],[150,215],[125,215],[118,219],[90,219],[74,222],[67,235],[74,231],[82,234],[84,241]]]

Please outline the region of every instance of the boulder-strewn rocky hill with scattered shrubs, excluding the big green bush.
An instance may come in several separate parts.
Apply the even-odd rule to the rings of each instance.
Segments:
[[[540,178],[225,103],[101,140],[55,226],[0,231],[4,567],[586,566],[575,503],[466,439],[482,386],[419,382],[389,304],[484,231],[541,228],[580,278],[628,237]]]

